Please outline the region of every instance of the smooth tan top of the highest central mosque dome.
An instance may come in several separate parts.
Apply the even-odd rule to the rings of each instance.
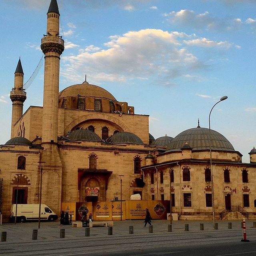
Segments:
[[[59,98],[65,98],[70,96],[82,96],[82,97],[95,97],[105,98],[109,100],[116,100],[116,98],[107,90],[94,84],[88,84],[83,82],[82,84],[71,85],[59,93]]]

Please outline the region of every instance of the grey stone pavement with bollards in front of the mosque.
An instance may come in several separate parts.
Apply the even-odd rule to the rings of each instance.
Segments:
[[[240,241],[242,238],[241,221],[216,221],[218,230],[214,230],[211,221],[173,221],[172,232],[168,232],[168,220],[153,220],[153,233],[144,228],[142,220],[114,221],[113,235],[108,228],[90,228],[90,237],[85,237],[85,228],[60,226],[59,222],[42,222],[38,230],[38,240],[32,240],[32,230],[37,222],[3,224],[0,232],[7,232],[7,241],[0,242],[0,256],[11,255],[78,255],[79,253],[99,253],[149,246],[184,246],[188,244],[211,244]],[[200,230],[204,223],[204,230]],[[184,225],[189,224],[189,231]],[[134,234],[129,234],[129,226],[134,226]],[[60,229],[65,229],[65,238],[60,238]],[[246,222],[248,239],[256,240],[256,228],[252,221]]]

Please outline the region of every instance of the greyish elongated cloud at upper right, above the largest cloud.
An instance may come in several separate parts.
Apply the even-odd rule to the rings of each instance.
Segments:
[[[196,13],[193,10],[180,10],[164,14],[173,24],[190,26],[196,29],[207,30],[237,30],[242,24],[240,18],[218,18],[210,16],[209,12]]]

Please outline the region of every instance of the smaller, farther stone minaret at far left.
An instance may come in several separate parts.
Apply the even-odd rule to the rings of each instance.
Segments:
[[[20,119],[23,114],[23,103],[26,100],[26,92],[23,89],[23,69],[21,61],[19,59],[17,68],[14,73],[14,88],[10,92],[10,98],[12,100],[12,130],[11,138],[17,137],[14,134],[14,124]]]

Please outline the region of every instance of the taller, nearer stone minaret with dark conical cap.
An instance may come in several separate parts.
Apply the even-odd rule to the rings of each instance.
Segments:
[[[44,103],[42,117],[42,146],[52,148],[58,137],[58,93],[60,55],[64,40],[59,36],[60,13],[56,0],[51,0],[47,12],[47,34],[42,38],[44,59]]]

